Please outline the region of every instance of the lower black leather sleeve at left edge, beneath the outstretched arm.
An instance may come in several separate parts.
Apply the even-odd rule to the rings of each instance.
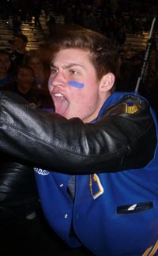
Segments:
[[[33,168],[1,158],[0,225],[35,211],[38,199]]]

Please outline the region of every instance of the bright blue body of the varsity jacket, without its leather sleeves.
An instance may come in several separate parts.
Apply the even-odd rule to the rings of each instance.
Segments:
[[[121,98],[122,94],[114,93],[98,118]],[[157,128],[153,112],[152,117]],[[35,168],[43,212],[51,228],[70,247],[83,243],[92,253],[103,256],[150,255],[145,254],[148,248],[149,253],[154,246],[158,248],[157,167],[156,146],[144,168],[76,175],[74,202],[67,193],[70,175]],[[76,236],[70,236],[71,223]],[[158,255],[158,250],[152,255]]]

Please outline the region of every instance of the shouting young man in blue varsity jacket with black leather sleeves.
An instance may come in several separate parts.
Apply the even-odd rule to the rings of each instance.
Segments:
[[[0,148],[35,167],[43,213],[70,247],[156,255],[156,115],[141,96],[113,92],[117,70],[104,36],[61,33],[48,82],[55,113],[2,92]]]

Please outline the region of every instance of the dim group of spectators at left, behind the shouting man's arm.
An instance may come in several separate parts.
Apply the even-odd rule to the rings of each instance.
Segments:
[[[23,96],[36,107],[52,108],[53,103],[48,92],[47,70],[40,48],[26,51],[27,36],[13,36],[11,51],[0,50],[0,90],[10,90]]]

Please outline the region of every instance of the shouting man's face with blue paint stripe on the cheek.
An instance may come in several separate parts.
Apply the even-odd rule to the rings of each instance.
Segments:
[[[101,107],[99,85],[88,51],[73,48],[58,51],[48,81],[56,113],[66,119],[92,121]]]

